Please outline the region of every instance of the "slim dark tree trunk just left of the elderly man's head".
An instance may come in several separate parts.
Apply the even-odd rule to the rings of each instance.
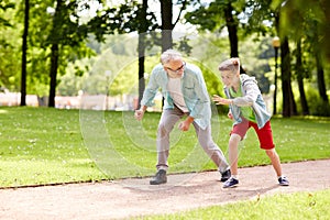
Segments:
[[[141,9],[141,21],[142,25],[139,30],[139,101],[138,101],[138,109],[140,109],[141,99],[143,97],[143,91],[145,88],[145,81],[144,81],[144,57],[145,57],[145,37],[146,37],[146,10],[147,10],[147,0],[143,0],[142,2],[142,9]]]

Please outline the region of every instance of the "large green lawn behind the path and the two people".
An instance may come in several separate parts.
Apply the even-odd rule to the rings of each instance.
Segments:
[[[155,172],[160,113],[142,122],[133,112],[0,108],[0,187],[150,176]],[[272,120],[282,162],[330,157],[330,119]],[[227,154],[231,121],[213,117],[212,135]],[[266,165],[253,130],[241,146],[239,165]],[[195,130],[173,132],[170,173],[216,169]]]

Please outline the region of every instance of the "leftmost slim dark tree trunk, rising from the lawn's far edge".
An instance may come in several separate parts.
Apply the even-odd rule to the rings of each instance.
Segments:
[[[22,37],[22,76],[21,76],[21,107],[26,106],[26,54],[29,35],[29,12],[30,0],[25,0],[24,9],[24,32]]]

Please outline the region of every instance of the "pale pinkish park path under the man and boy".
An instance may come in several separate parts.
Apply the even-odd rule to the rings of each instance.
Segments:
[[[256,196],[330,188],[330,160],[283,164],[290,186],[280,187],[271,166],[241,168],[240,186],[223,189],[218,172],[0,190],[0,219],[120,219],[221,205]]]

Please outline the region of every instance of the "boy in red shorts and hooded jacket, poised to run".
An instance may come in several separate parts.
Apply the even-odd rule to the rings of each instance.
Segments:
[[[231,178],[223,184],[223,188],[235,187],[238,178],[238,146],[252,127],[258,138],[260,147],[265,150],[276,172],[280,186],[288,186],[289,182],[282,174],[279,156],[275,151],[271,128],[271,114],[266,110],[262,94],[254,77],[240,74],[240,59],[230,58],[220,64],[219,70],[224,85],[226,98],[215,95],[217,105],[229,105],[228,117],[233,120],[233,128],[229,139],[229,162]]]

